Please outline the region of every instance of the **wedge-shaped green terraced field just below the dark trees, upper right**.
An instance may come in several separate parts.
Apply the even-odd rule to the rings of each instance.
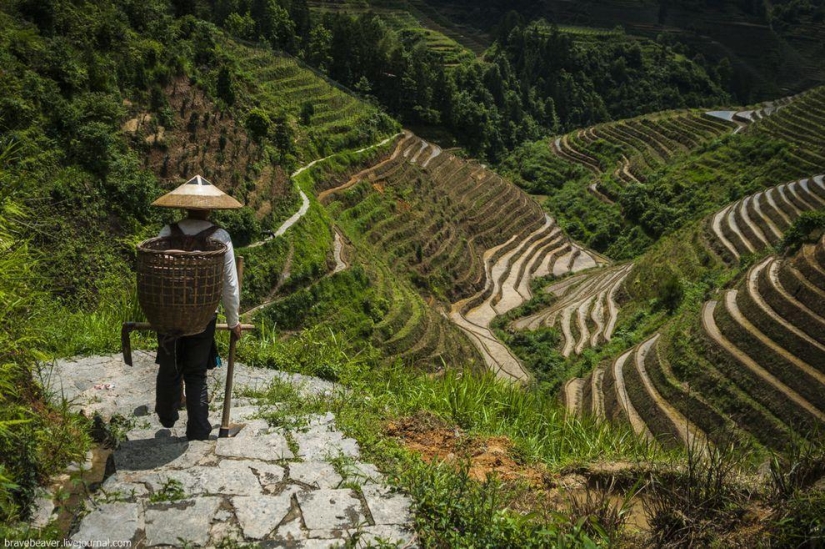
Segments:
[[[674,157],[737,129],[732,119],[694,112],[668,112],[578,130],[551,142],[560,158],[589,170],[589,190],[613,203],[618,191]]]

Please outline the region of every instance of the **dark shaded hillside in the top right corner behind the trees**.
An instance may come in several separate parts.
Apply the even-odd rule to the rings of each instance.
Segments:
[[[589,0],[506,3],[497,0],[428,2],[444,17],[497,29],[517,11],[561,29],[592,34],[621,27],[635,36],[682,43],[710,63],[727,59],[729,91],[741,102],[774,99],[822,85],[820,2]]]

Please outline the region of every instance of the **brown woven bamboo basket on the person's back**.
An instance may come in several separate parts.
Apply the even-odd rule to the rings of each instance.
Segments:
[[[152,328],[177,337],[206,329],[221,300],[226,245],[207,239],[203,251],[170,249],[168,237],[138,245],[138,301]]]

